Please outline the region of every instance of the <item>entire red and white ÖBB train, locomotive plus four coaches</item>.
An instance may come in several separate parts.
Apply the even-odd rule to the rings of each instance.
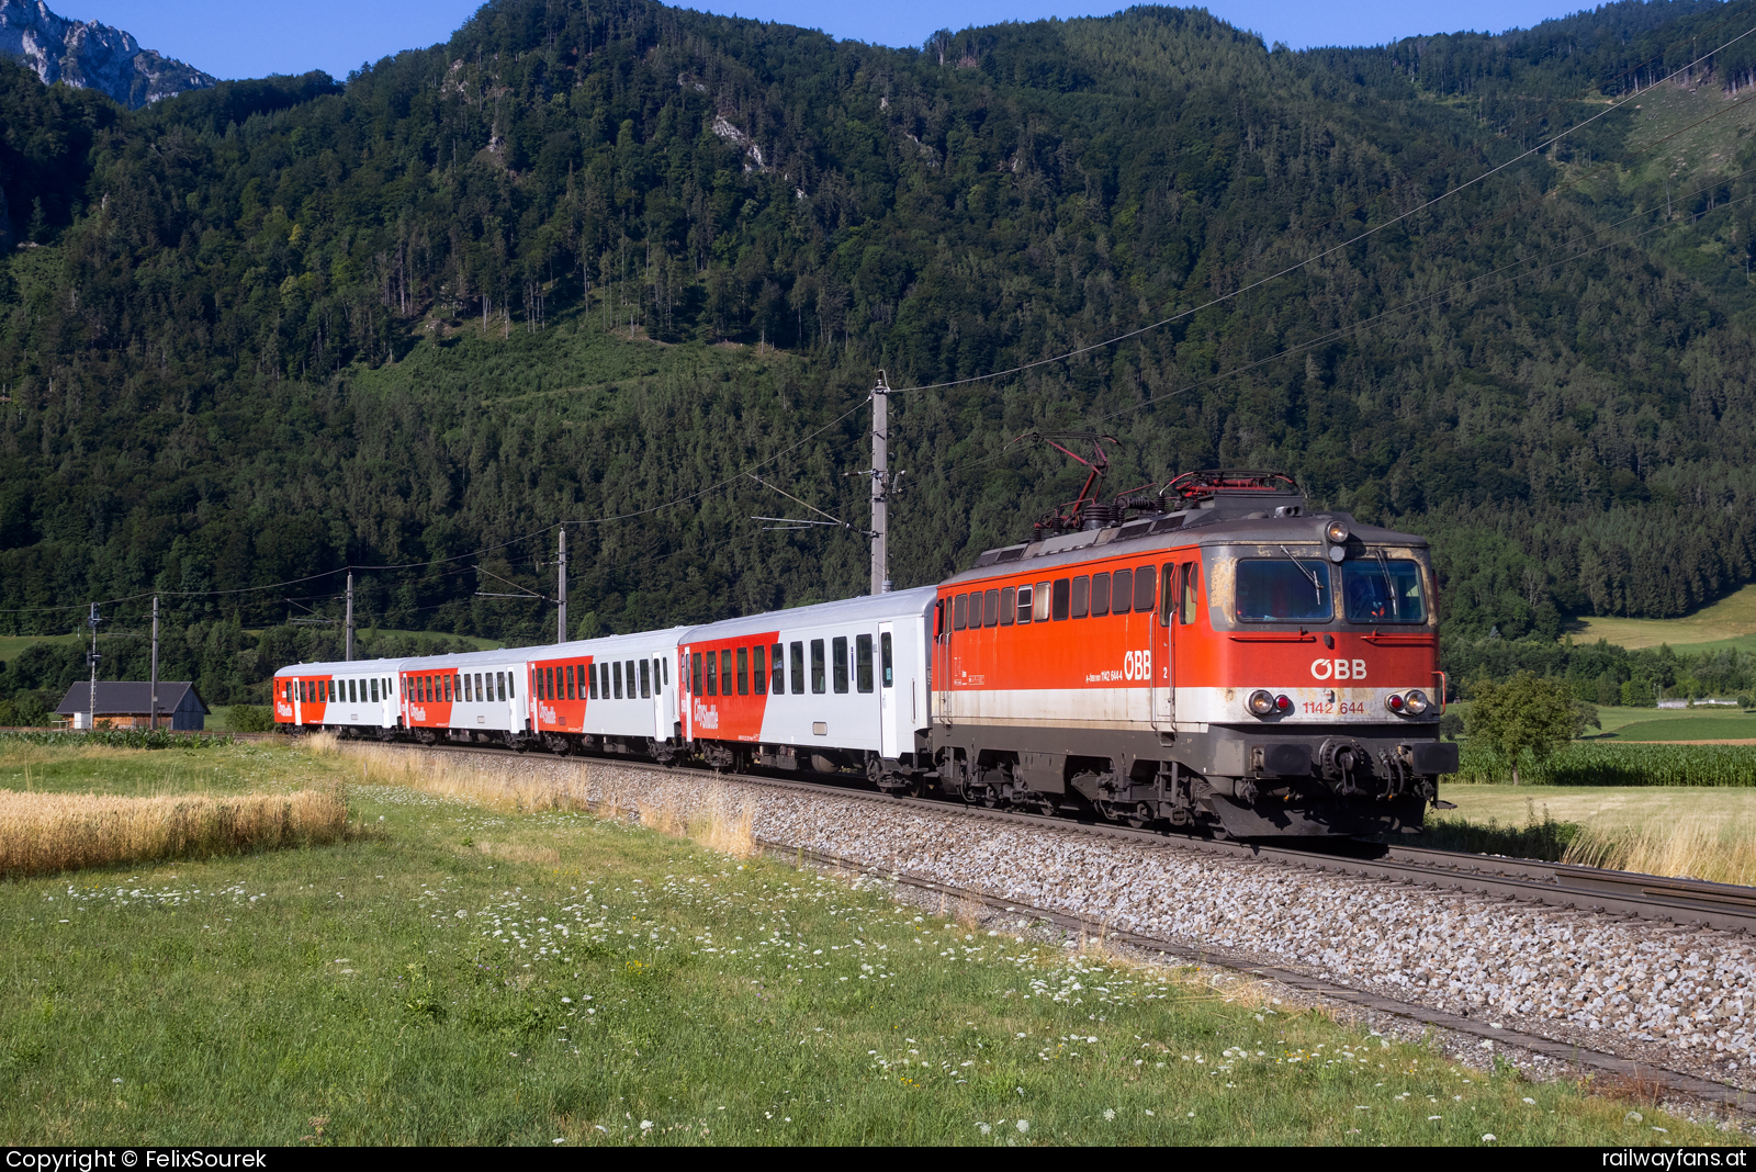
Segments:
[[[1092,481],[1094,482],[1094,481]],[[1090,484],[1087,488],[1090,488]],[[939,586],[276,675],[276,719],[427,744],[864,772],[1233,837],[1412,830],[1457,746],[1428,544],[1271,472],[1082,498]]]

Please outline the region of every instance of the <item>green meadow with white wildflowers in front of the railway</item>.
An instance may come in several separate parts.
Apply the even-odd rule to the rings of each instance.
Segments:
[[[356,777],[0,746],[19,790]],[[353,790],[376,839],[0,883],[16,1144],[1696,1144],[1254,986],[583,812]],[[950,914],[946,914],[950,912]],[[1665,1130],[1659,1130],[1665,1128]]]

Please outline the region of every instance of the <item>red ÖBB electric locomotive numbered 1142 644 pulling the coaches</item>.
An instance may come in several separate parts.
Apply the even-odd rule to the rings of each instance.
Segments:
[[[1419,830],[1457,768],[1428,542],[1310,512],[1278,472],[1105,504],[1101,465],[939,586],[938,786],[1240,839]]]

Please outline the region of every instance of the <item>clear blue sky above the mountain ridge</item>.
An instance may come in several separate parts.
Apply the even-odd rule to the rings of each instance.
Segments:
[[[133,33],[148,49],[218,77],[262,77],[323,68],[337,77],[362,61],[446,40],[476,11],[472,0],[51,0],[70,19],[97,19]],[[968,28],[1045,16],[1105,16],[1126,4],[1069,0],[890,0],[806,4],[729,0],[687,7],[822,28],[845,40],[918,46],[938,28]],[[1294,49],[1384,44],[1415,33],[1528,28],[1587,4],[1563,0],[1217,0],[1210,12]]]

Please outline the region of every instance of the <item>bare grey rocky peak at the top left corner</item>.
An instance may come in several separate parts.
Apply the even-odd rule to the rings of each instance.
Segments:
[[[130,109],[214,84],[198,68],[142,49],[119,28],[70,21],[42,0],[0,0],[0,53],[23,58],[44,82],[97,89]]]

